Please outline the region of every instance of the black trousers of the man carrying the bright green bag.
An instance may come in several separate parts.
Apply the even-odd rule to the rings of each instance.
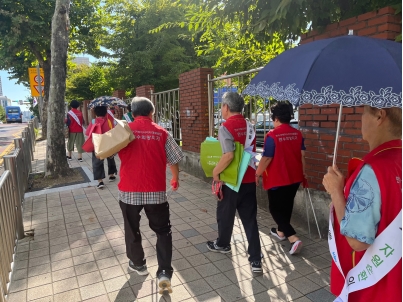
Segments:
[[[230,244],[235,212],[238,210],[249,243],[249,261],[260,261],[261,247],[256,220],[256,184],[241,184],[239,192],[235,192],[224,185],[222,192],[224,198],[217,202],[217,245],[219,247],[226,247]]]

